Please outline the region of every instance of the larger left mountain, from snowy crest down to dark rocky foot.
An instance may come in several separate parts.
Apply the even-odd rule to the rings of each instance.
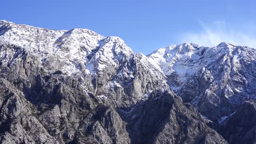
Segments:
[[[118,37],[0,21],[0,143],[226,144],[166,79]]]

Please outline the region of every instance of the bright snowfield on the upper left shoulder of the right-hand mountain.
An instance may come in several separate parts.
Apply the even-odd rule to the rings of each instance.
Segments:
[[[191,59],[191,61],[197,62],[200,57],[193,55],[193,53],[200,47],[200,45],[193,43],[172,45],[152,52],[148,55],[148,58],[150,62],[156,63],[165,75],[171,75],[173,72],[177,72],[184,78],[185,76],[190,76],[195,69],[190,65],[186,65],[186,60]],[[174,65],[177,61],[181,61],[181,65]],[[184,79],[182,80],[184,81]]]

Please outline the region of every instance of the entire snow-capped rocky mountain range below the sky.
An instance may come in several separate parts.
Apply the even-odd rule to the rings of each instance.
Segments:
[[[89,29],[1,20],[0,142],[227,144],[255,96],[255,59],[229,43],[144,56]]]

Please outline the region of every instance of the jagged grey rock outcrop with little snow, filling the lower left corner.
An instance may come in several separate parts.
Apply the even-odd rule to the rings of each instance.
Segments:
[[[61,83],[61,79],[65,78],[53,75],[46,87],[33,93],[33,99],[2,79],[3,144],[129,143],[125,123],[114,108],[75,87],[80,82]]]

